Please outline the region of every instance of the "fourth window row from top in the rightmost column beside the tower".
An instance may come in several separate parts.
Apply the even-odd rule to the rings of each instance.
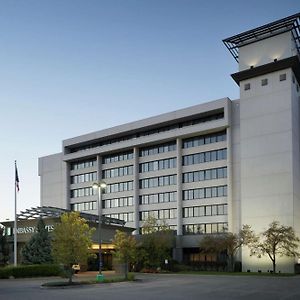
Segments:
[[[225,197],[227,196],[227,185],[185,190],[182,193],[183,200]]]

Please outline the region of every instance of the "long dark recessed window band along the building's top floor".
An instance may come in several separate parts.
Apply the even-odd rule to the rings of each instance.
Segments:
[[[184,122],[179,122],[173,125],[167,125],[167,126],[161,126],[155,129],[151,129],[151,130],[145,130],[145,131],[140,131],[138,133],[135,134],[128,134],[128,135],[124,135],[122,137],[118,137],[115,139],[109,139],[106,141],[101,141],[101,142],[92,142],[88,145],[84,145],[84,146],[79,146],[79,147],[68,147],[68,150],[73,153],[73,152],[77,152],[77,151],[84,151],[84,150],[88,150],[88,149],[92,149],[92,148],[96,148],[96,147],[101,147],[104,145],[110,145],[113,143],[118,143],[118,142],[122,142],[122,141],[128,141],[134,138],[139,138],[142,136],[148,136],[148,135],[152,135],[152,134],[157,134],[157,133],[161,133],[161,132],[165,132],[165,131],[170,131],[170,130],[175,130],[178,128],[183,128],[183,127],[187,127],[187,126],[192,126],[192,125],[196,125],[196,124],[200,124],[200,123],[204,123],[204,122],[209,122],[209,121],[213,121],[213,120],[218,120],[218,119],[223,119],[224,118],[224,112],[220,112],[220,111],[210,111],[210,115],[205,115],[205,116],[199,116],[198,118],[195,118],[193,120],[189,120],[189,121],[184,121]]]

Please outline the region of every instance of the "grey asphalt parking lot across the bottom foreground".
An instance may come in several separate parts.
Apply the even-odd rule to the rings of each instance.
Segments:
[[[300,299],[300,277],[138,274],[136,282],[44,289],[55,279],[0,280],[1,300]]]

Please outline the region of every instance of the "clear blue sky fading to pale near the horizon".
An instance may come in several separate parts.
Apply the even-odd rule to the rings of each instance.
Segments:
[[[299,0],[0,0],[0,221],[40,205],[38,158],[62,140],[239,98],[222,40]]]

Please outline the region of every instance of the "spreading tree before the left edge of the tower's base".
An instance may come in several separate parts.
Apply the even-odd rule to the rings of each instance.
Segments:
[[[219,255],[226,251],[227,265],[229,271],[234,271],[235,255],[238,249],[243,245],[255,243],[257,236],[251,230],[251,226],[243,225],[243,228],[237,233],[227,232],[218,235],[207,235],[200,241],[200,250],[206,254]]]

